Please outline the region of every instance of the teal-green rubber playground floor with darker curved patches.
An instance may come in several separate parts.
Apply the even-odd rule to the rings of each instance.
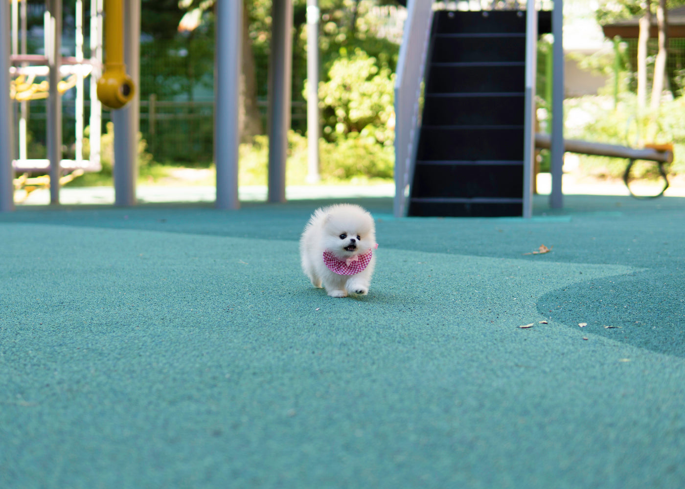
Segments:
[[[0,488],[685,487],[685,198],[546,200],[353,199],[347,299],[299,268],[333,201],[0,214]]]

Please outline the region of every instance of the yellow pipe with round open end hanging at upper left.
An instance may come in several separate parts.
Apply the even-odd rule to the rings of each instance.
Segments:
[[[136,93],[126,74],[123,33],[123,1],[105,0],[105,71],[97,81],[97,98],[112,109],[121,109]]]

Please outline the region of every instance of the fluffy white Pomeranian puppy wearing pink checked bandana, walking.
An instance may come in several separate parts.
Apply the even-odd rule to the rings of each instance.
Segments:
[[[366,294],[377,247],[373,217],[359,205],[317,209],[300,238],[302,270],[331,297]]]

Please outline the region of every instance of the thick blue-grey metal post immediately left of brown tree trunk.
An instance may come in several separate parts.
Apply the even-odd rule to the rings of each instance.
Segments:
[[[216,208],[238,209],[238,146],[240,145],[240,44],[242,1],[216,2],[214,62],[214,163]]]

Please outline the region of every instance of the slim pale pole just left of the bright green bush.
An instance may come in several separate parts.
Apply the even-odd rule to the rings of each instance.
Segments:
[[[307,181],[315,184],[319,175],[319,0],[307,0]]]

